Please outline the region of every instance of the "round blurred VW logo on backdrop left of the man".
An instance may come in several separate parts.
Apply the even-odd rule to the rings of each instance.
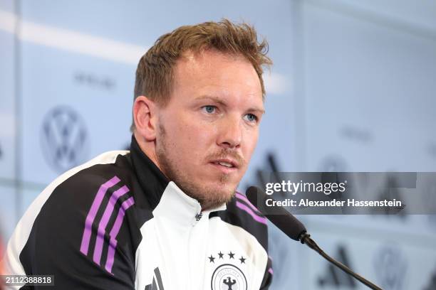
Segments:
[[[56,172],[78,166],[88,151],[83,119],[70,107],[54,107],[43,119],[41,145],[46,161]]]

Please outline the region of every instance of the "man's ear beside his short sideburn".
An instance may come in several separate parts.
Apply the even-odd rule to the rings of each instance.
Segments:
[[[146,141],[155,141],[157,126],[157,105],[145,96],[139,96],[133,104],[133,120],[137,133]]]

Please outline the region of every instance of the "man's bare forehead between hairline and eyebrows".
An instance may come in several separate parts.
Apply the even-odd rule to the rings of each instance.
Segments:
[[[177,60],[174,70],[174,93],[214,97],[251,96],[262,101],[259,76],[243,55],[217,50],[188,51]]]

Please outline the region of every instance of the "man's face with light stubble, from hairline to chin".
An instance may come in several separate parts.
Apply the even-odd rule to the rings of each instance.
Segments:
[[[203,210],[232,198],[259,135],[261,85],[242,56],[187,53],[170,101],[158,109],[157,162]]]

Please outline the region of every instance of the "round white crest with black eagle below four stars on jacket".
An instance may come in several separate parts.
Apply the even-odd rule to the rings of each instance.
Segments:
[[[222,264],[212,274],[212,290],[246,290],[246,278],[242,271],[232,264]]]

